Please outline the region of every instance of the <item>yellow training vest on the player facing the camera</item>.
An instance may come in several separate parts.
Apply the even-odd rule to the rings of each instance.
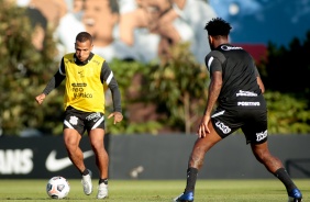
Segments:
[[[84,66],[75,64],[74,54],[64,56],[66,90],[64,108],[73,106],[84,112],[104,113],[104,89],[100,80],[104,59],[98,55]]]

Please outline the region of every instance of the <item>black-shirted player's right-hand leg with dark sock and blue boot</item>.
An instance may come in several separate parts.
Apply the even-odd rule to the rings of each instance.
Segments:
[[[266,169],[275,175],[286,187],[289,202],[300,202],[302,194],[292,182],[291,178],[287,173],[283,166],[283,162],[275,156],[273,156],[268,149],[268,143],[252,144],[252,150],[256,159],[262,162]]]

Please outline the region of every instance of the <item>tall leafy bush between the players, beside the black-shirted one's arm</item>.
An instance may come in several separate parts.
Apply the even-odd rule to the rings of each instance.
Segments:
[[[173,46],[162,61],[151,68],[148,98],[166,114],[166,125],[189,134],[206,106],[207,69],[196,61],[189,44]]]

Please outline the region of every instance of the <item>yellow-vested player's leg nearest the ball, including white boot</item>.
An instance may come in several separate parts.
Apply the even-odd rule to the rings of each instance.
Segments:
[[[81,183],[82,183],[84,192],[85,194],[89,195],[92,192],[91,171],[86,169],[85,167],[82,150],[79,148],[80,139],[81,139],[81,135],[76,130],[73,128],[64,130],[64,141],[68,153],[68,157],[82,175]]]

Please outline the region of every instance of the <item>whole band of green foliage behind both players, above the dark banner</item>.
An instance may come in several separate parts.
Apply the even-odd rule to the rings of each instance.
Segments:
[[[19,135],[22,130],[37,128],[44,134],[62,134],[64,86],[54,90],[42,105],[34,98],[58,69],[53,30],[46,30],[44,49],[31,43],[33,27],[21,8],[0,0],[0,128],[4,135]],[[294,38],[288,48],[268,45],[268,57],[258,65],[266,85],[268,131],[270,134],[310,134],[309,93],[310,34],[300,42]],[[113,125],[112,134],[195,133],[204,111],[209,76],[196,63],[189,44],[171,47],[169,59],[141,64],[113,60],[110,67],[118,79],[124,121]],[[109,99],[109,96],[107,97]],[[111,100],[110,100],[111,102]],[[143,108],[155,105],[156,119],[133,121]],[[107,114],[111,112],[107,105]],[[0,131],[1,134],[1,131]]]

